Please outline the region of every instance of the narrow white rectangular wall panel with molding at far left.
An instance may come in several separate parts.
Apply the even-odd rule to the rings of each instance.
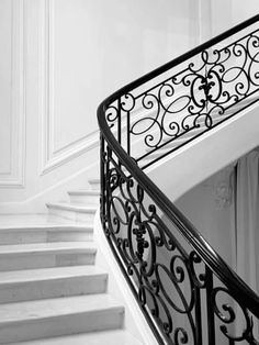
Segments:
[[[0,1],[0,187],[23,187],[23,0]]]

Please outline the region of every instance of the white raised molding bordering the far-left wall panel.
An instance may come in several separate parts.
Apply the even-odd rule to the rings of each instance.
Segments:
[[[24,0],[11,0],[10,169],[0,172],[0,188],[24,188],[25,64]]]

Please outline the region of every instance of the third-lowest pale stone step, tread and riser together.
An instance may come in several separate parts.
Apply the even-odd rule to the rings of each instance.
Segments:
[[[0,271],[93,265],[92,242],[34,243],[0,246]]]

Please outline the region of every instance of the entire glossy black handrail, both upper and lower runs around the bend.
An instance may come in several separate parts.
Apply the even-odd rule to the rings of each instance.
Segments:
[[[232,294],[237,301],[241,301],[240,296],[245,296],[246,307],[254,315],[259,318],[259,297],[238,277],[237,274],[223,260],[223,258],[211,247],[211,245],[203,238],[193,224],[180,212],[177,207],[161,192],[161,190],[145,175],[144,171],[137,166],[136,162],[128,156],[124,148],[119,144],[114,134],[112,133],[106,119],[105,112],[115,100],[132,91],[133,89],[142,86],[148,80],[159,76],[160,74],[171,69],[172,67],[181,64],[182,62],[202,53],[204,49],[212,47],[221,41],[236,34],[238,31],[248,27],[249,25],[259,21],[259,14],[249,19],[248,21],[238,24],[237,26],[228,30],[227,32],[218,35],[215,38],[200,45],[199,47],[181,55],[172,62],[155,69],[154,71],[136,79],[127,86],[121,88],[112,96],[106,98],[98,108],[98,121],[101,131],[101,136],[105,140],[108,145],[112,148],[119,157],[122,165],[127,169],[131,176],[145,188],[145,191],[150,199],[159,207],[159,209],[167,215],[167,218],[177,226],[181,235],[188,243],[196,251],[202,260],[212,269],[212,271],[221,279],[226,286],[230,287]],[[102,154],[102,153],[101,153]]]

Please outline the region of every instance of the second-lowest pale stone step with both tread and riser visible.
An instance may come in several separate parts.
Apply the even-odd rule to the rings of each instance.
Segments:
[[[3,271],[0,303],[101,293],[106,291],[106,282],[108,275],[94,266]]]

